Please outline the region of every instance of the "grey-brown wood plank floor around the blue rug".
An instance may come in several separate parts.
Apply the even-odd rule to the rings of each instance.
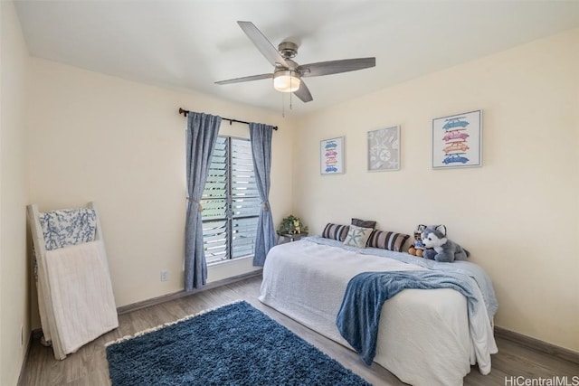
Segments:
[[[77,353],[69,355],[64,361],[57,361],[52,354],[52,348],[44,347],[39,341],[34,341],[24,364],[20,385],[109,385],[109,366],[106,359],[104,345],[127,334],[135,334],[147,328],[174,321],[185,315],[196,314],[204,309],[214,308],[231,303],[234,300],[244,299],[266,315],[285,325],[291,331],[299,334],[310,344],[314,344],[321,351],[341,362],[345,367],[356,372],[366,381],[374,385],[403,385],[393,374],[382,366],[374,363],[368,367],[356,353],[351,352],[340,344],[299,325],[285,315],[258,300],[261,278],[249,278],[223,287],[209,289],[198,294],[182,297],[176,300],[151,306],[119,316],[119,328],[101,336],[94,342],[82,347]],[[498,339],[498,354],[492,356],[492,372],[483,376],[478,368],[472,367],[470,374],[465,377],[465,385],[516,385],[525,379],[539,377],[553,378],[567,376],[568,384],[579,378],[579,365],[573,362],[555,359],[545,353],[529,350],[508,340]],[[441,353],[443,354],[443,353]],[[416,363],[420,366],[420,363]],[[525,377],[515,381],[516,377]],[[506,382],[506,378],[513,381]],[[530,381],[529,381],[530,382]],[[533,383],[539,384],[539,383]],[[546,383],[543,383],[546,384]]]

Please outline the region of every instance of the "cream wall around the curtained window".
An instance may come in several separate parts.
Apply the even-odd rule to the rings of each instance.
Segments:
[[[41,211],[97,203],[117,306],[183,289],[186,118],[178,108],[279,126],[271,208],[276,223],[289,213],[293,128],[280,114],[40,59],[31,59],[29,94],[31,202]],[[221,132],[249,137],[247,125],[223,122]],[[208,280],[254,269],[251,260],[233,265],[210,268]]]

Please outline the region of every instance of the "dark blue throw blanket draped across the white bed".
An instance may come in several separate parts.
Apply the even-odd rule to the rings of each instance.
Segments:
[[[337,313],[337,329],[364,362],[370,365],[375,357],[384,301],[406,288],[452,288],[467,297],[469,312],[472,313],[477,298],[469,279],[432,270],[362,272],[347,284],[342,306]]]

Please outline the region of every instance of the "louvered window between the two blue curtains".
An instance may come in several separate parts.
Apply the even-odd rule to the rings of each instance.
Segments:
[[[201,205],[208,264],[253,255],[261,198],[249,139],[217,137]]]

